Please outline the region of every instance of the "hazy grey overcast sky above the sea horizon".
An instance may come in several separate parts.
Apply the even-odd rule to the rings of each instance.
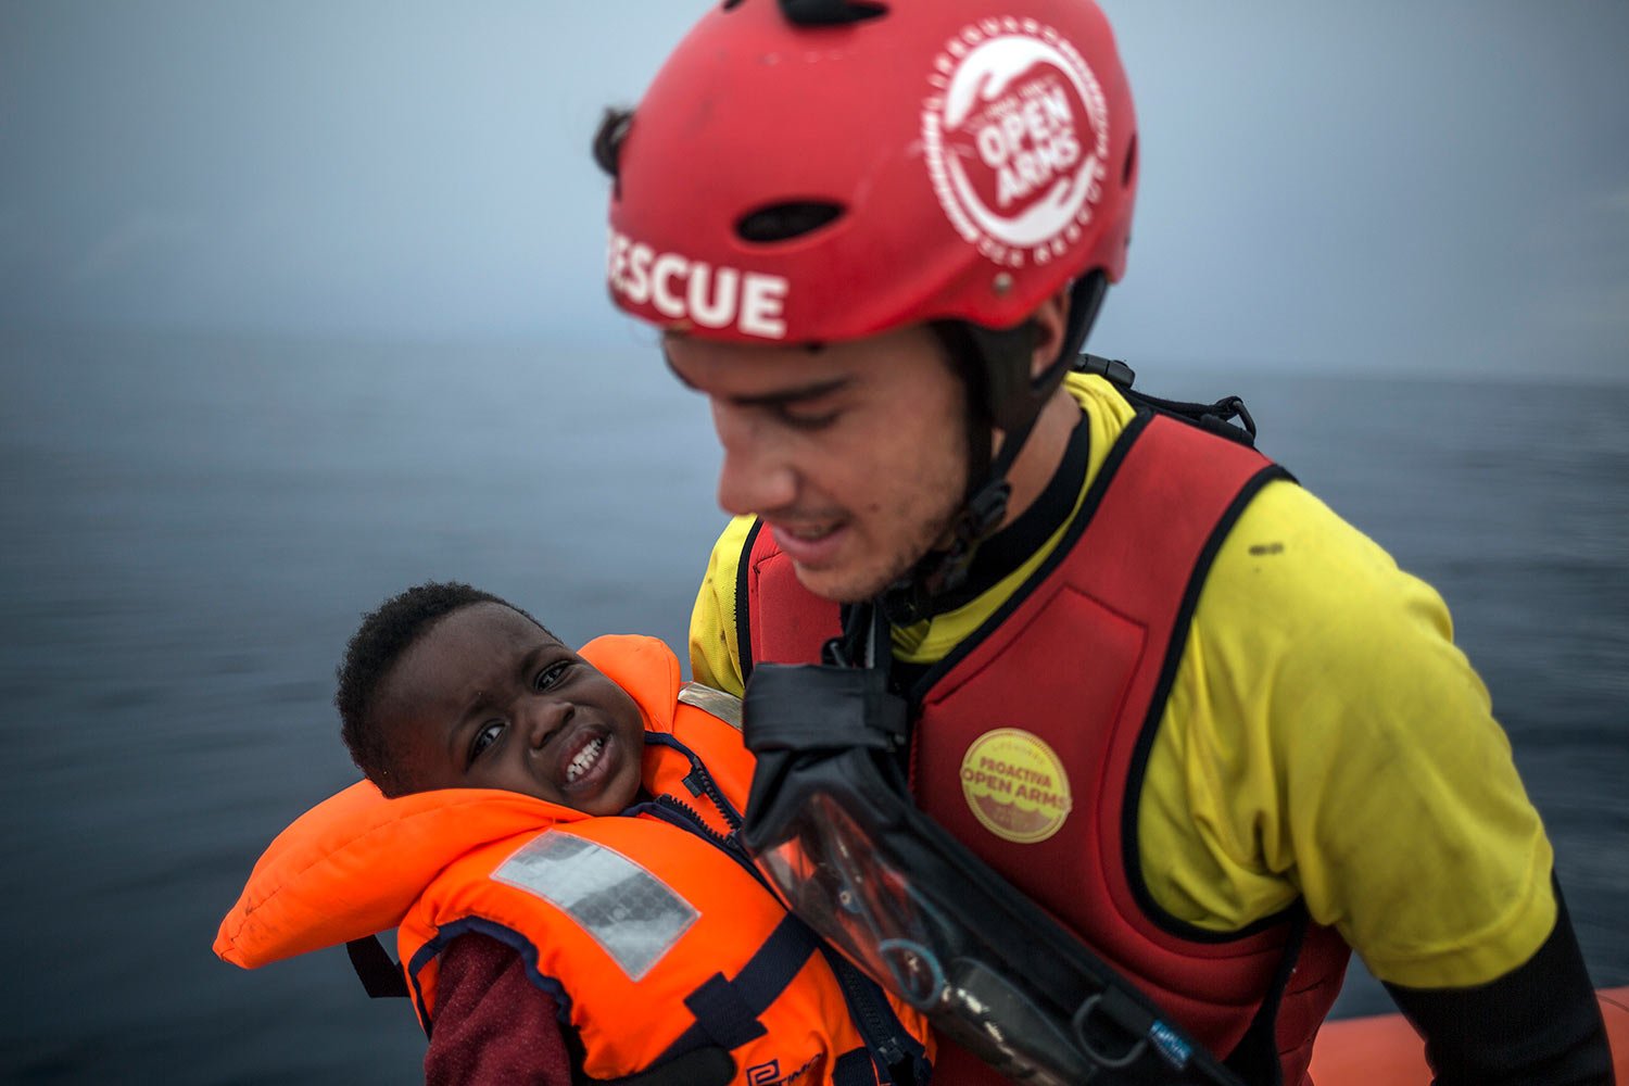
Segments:
[[[1629,2],[1104,7],[1095,347],[1629,379]],[[627,342],[585,148],[702,10],[0,0],[0,324]]]

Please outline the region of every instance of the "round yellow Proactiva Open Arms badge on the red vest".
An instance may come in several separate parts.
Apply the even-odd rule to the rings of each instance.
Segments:
[[[1018,843],[1046,840],[1070,809],[1062,760],[1021,728],[997,728],[973,741],[961,759],[961,793],[984,829]]]

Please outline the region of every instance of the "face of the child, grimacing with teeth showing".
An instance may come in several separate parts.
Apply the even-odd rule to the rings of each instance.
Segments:
[[[639,791],[639,705],[503,604],[432,625],[386,672],[373,712],[414,791],[502,788],[588,814],[617,814]]]

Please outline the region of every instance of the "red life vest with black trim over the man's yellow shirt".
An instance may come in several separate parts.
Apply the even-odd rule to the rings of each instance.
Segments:
[[[1210,560],[1277,477],[1254,449],[1197,427],[1134,420],[1052,555],[917,682],[911,777],[924,811],[1194,1039],[1227,1055],[1253,1023],[1274,1029],[1284,1081],[1303,1083],[1346,944],[1298,909],[1236,935],[1166,915],[1142,881],[1135,825]],[[839,632],[836,604],[798,585],[769,532],[753,532],[740,568],[743,671],[818,663]],[[1266,1053],[1269,1037],[1251,1037]],[[1000,1081],[948,1044],[937,1068],[958,1086]]]

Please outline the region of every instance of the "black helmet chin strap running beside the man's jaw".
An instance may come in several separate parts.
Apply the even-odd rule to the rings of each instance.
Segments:
[[[1101,272],[1075,280],[1069,295],[1062,348],[1036,378],[1030,378],[1034,327],[1028,321],[1010,329],[961,324],[942,332],[953,355],[974,355],[974,365],[964,368],[971,371],[968,397],[974,405],[968,423],[968,490],[950,528],[950,545],[929,550],[878,594],[876,602],[888,620],[899,625],[920,622],[933,614],[937,596],[953,593],[966,583],[979,544],[994,536],[1007,518],[1007,501],[1012,497],[1007,472],[1018,461],[1046,402],[1074,366],[1106,290],[1108,278]],[[992,441],[984,436],[992,422],[1005,433],[1002,448],[994,454]]]

